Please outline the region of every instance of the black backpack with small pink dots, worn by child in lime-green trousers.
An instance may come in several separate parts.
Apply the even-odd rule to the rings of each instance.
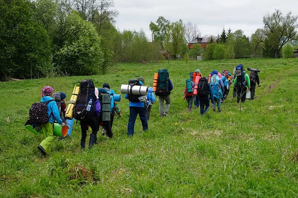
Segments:
[[[46,124],[49,122],[48,116],[48,107],[47,104],[52,102],[53,100],[49,100],[46,102],[35,102],[32,104],[29,110],[29,118],[30,121],[34,124]],[[52,114],[52,113],[51,113]]]

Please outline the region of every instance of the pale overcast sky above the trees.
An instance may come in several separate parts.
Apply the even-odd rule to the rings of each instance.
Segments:
[[[263,15],[280,9],[298,15],[298,0],[114,0],[119,11],[116,27],[145,31],[151,39],[150,21],[164,16],[171,22],[182,19],[196,23],[201,35],[221,34],[223,27],[242,29],[250,36],[263,27]]]

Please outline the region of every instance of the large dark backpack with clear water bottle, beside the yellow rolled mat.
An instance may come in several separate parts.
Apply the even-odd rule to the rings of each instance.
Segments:
[[[91,100],[91,109],[87,111],[87,106]],[[79,121],[81,120],[95,120],[95,86],[92,80],[86,79],[80,82],[80,91],[77,96],[77,101],[73,109],[73,117]]]

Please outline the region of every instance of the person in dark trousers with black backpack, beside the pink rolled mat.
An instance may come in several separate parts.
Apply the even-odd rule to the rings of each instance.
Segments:
[[[210,96],[212,107],[215,107],[211,86],[208,83],[208,79],[206,77],[202,77],[199,81],[198,96],[200,101],[201,115],[203,115],[204,113],[207,113],[207,111],[209,110],[210,103],[209,103],[208,96]]]

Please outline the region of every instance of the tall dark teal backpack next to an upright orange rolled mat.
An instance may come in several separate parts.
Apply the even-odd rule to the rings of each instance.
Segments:
[[[167,69],[158,70],[158,83],[155,92],[156,96],[168,96],[169,91],[169,72]]]

